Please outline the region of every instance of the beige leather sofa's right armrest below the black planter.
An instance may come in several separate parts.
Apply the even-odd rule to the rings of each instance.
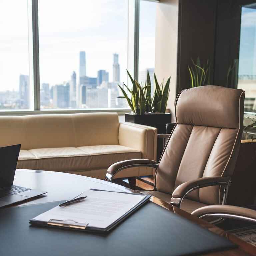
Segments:
[[[120,123],[119,145],[141,151],[143,159],[156,160],[157,128],[134,123]]]

